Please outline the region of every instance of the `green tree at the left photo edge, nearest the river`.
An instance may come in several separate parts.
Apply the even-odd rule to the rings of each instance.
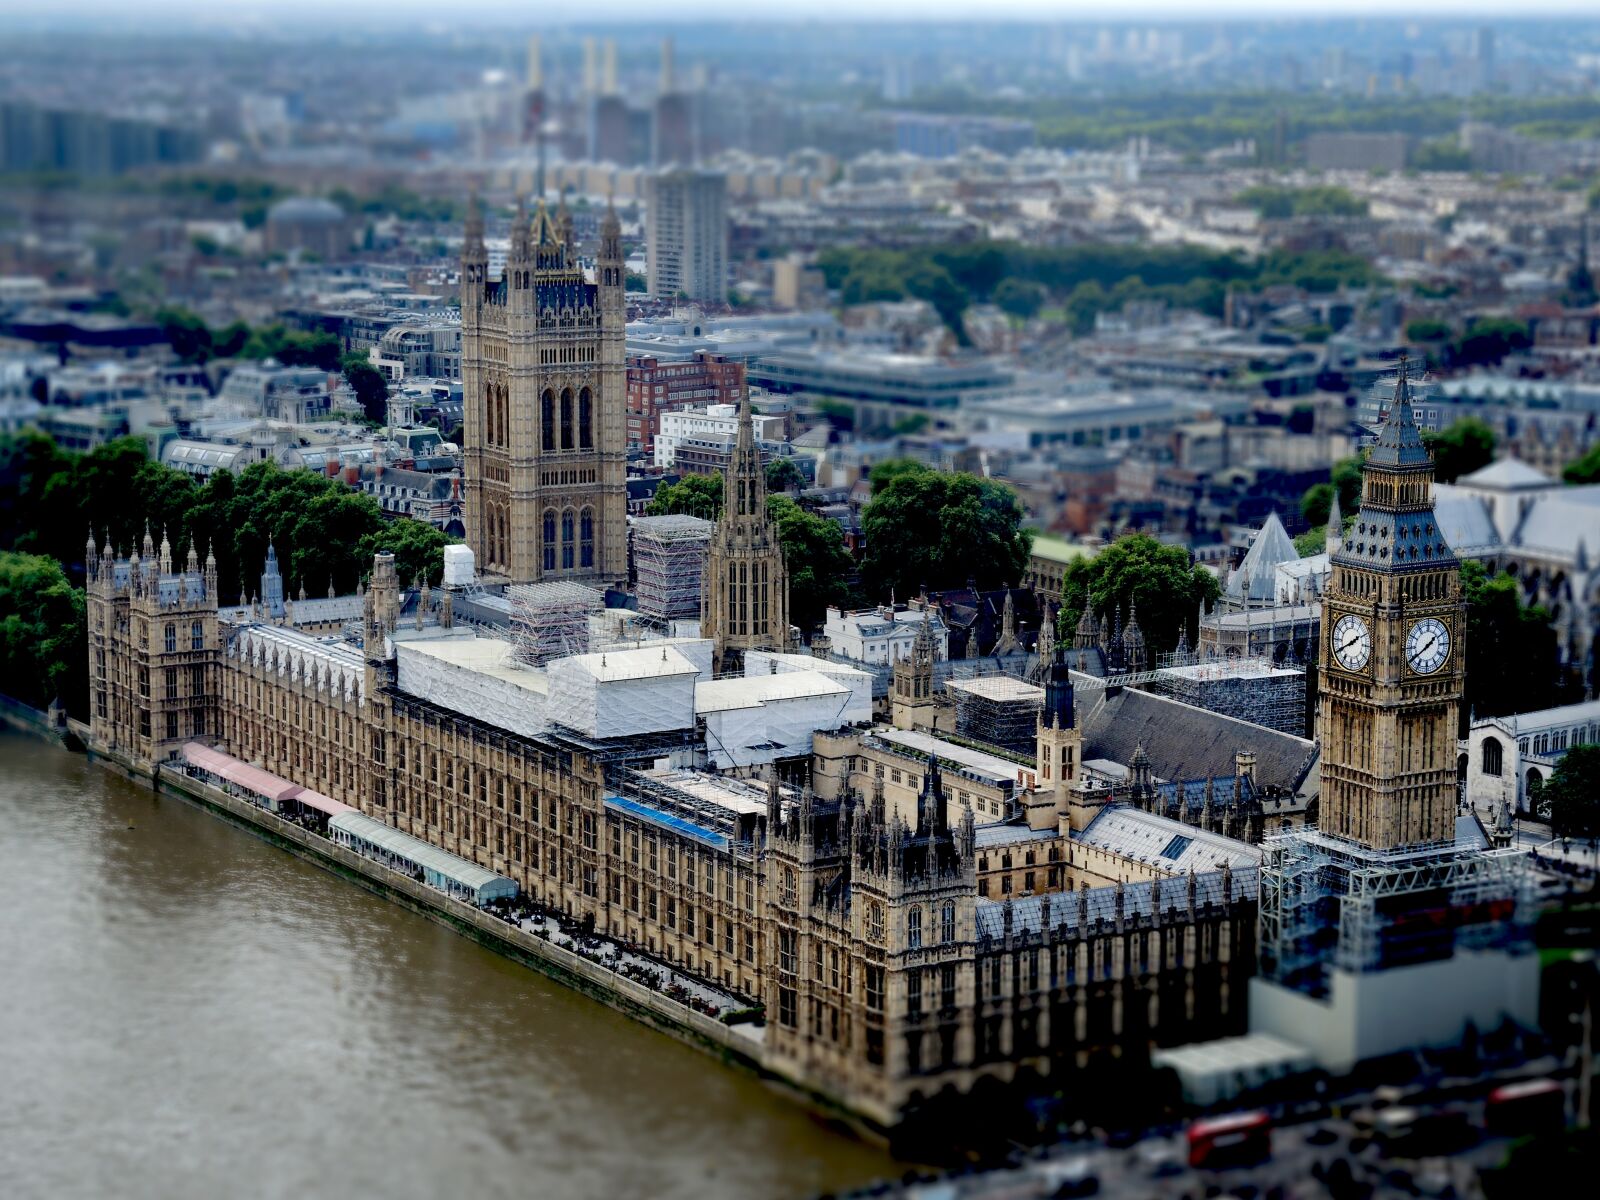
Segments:
[[[0,678],[6,693],[34,707],[61,699],[74,715],[88,715],[83,611],[83,589],[67,582],[61,563],[0,552]]]

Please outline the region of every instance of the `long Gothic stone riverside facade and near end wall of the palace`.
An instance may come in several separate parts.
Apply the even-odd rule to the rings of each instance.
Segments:
[[[101,563],[112,579],[131,570]],[[760,1002],[768,1066],[885,1126],[981,1078],[1138,1059],[1152,1042],[1242,1027],[1248,888],[1202,878],[1197,902],[1195,882],[1186,901],[1182,882],[1166,880],[1166,899],[1144,907],[1136,890],[1163,882],[1134,885],[1115,907],[1110,888],[982,899],[971,813],[952,829],[938,763],[923,771],[915,824],[885,814],[882,794],[822,800],[774,784],[765,819],[741,818],[725,845],[707,845],[611,798],[629,787],[626,762],[400,691],[392,640],[406,634],[389,555],[365,595],[363,646],[254,621],[219,630],[208,595],[166,610],[179,629],[198,621],[202,651],[168,651],[155,600],[138,595],[130,634],[101,643],[115,680],[197,654],[205,682],[182,710],[206,715],[173,739],[133,742],[136,688],[118,685],[107,710],[120,715],[93,726],[99,747],[158,760],[192,736],[216,739],[509,875],[544,904],[592,917],[597,933]],[[102,597],[94,611],[115,603]],[[150,712],[152,730],[163,726],[155,714],[166,709]]]

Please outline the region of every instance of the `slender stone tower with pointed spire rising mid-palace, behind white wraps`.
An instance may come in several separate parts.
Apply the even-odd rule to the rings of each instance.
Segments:
[[[738,670],[747,650],[789,648],[789,573],[778,523],[766,512],[766,470],[755,448],[750,402],[722,486],[722,515],[706,558],[701,635],[715,643],[715,670]]]

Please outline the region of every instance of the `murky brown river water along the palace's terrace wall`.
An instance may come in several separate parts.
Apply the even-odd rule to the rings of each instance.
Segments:
[[[752,1075],[0,731],[0,1195],[803,1197]]]

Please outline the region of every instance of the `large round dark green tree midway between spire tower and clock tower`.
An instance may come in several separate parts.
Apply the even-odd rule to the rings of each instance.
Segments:
[[[912,595],[923,584],[960,587],[968,579],[1011,584],[1022,578],[1032,549],[1011,488],[922,466],[875,486],[861,528],[862,579],[878,597]]]

